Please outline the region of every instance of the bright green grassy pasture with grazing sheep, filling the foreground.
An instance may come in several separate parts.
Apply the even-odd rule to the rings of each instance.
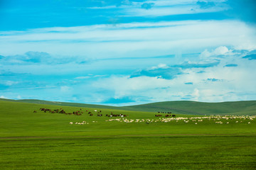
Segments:
[[[256,169],[255,117],[155,114],[0,101],[0,169]]]

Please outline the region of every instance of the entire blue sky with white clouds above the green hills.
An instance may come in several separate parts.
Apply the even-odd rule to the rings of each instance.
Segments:
[[[255,0],[0,0],[0,98],[256,100]]]

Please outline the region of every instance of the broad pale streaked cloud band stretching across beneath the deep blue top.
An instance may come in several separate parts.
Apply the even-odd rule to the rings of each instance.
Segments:
[[[240,33],[242,35],[238,36]],[[146,57],[159,55],[159,51],[162,55],[177,50],[183,53],[198,52],[223,43],[253,50],[256,47],[254,33],[255,29],[238,21],[174,21],[41,28],[0,36],[0,50],[2,55],[15,55],[8,50],[13,45],[16,47],[15,53],[19,54],[33,48],[38,52],[63,56],[74,55],[75,52],[77,56],[86,55],[90,58]]]

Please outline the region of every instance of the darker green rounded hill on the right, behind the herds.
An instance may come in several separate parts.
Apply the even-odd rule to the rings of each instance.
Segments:
[[[256,101],[203,103],[196,101],[166,101],[122,107],[130,111],[171,111],[190,115],[256,115]]]

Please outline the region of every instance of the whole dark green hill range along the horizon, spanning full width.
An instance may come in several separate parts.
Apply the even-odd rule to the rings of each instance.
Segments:
[[[171,112],[186,115],[256,115],[256,101],[230,101],[221,103],[205,103],[196,101],[164,101],[147,103],[137,106],[104,106],[84,103],[67,103],[41,100],[9,100],[0,98],[1,101],[15,101],[21,103],[37,103],[55,106],[75,106],[83,108],[106,108],[125,111],[146,112]]]

